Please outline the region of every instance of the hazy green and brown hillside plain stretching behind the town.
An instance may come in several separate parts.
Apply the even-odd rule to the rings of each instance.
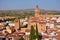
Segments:
[[[41,14],[48,13],[53,15],[60,15],[60,11],[55,10],[44,10],[41,9]],[[34,9],[25,9],[25,10],[0,10],[0,16],[15,16],[19,18],[24,18],[26,16],[34,16]]]

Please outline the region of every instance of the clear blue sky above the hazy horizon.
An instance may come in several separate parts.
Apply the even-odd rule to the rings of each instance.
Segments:
[[[32,9],[60,10],[60,0],[0,0],[0,10]]]

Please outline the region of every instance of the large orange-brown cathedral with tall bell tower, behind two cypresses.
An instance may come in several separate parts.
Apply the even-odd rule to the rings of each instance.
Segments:
[[[38,32],[46,32],[47,31],[47,26],[46,24],[50,21],[48,21],[48,18],[53,17],[52,15],[42,15],[40,12],[40,9],[38,7],[38,5],[36,6],[35,10],[35,16],[34,17],[30,17],[29,21],[28,21],[28,29],[31,28],[31,26],[34,26],[34,29],[36,28],[36,24],[38,26]]]

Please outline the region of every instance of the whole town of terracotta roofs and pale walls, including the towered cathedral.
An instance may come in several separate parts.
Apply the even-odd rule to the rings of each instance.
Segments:
[[[38,5],[29,18],[0,17],[0,40],[29,40],[31,26],[38,27],[40,40],[60,40],[60,15],[40,14]],[[38,39],[34,39],[38,40]]]

